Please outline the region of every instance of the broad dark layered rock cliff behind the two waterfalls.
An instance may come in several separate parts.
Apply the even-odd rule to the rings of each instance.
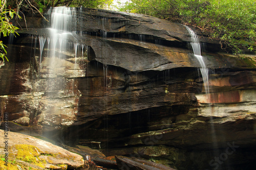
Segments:
[[[254,169],[254,55],[225,54],[198,33],[208,50],[205,94],[184,26],[145,15],[75,11],[66,51],[39,18],[9,45],[0,100],[11,131],[176,169]]]

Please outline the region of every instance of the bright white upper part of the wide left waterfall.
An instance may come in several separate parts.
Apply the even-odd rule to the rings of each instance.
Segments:
[[[76,30],[76,21],[79,22],[77,16],[77,9],[67,8],[67,7],[55,7],[50,8],[45,14],[46,18],[49,20],[49,36],[47,38],[39,36],[40,41],[40,61],[42,62],[42,51],[44,49],[45,42],[48,43],[47,58],[67,58],[67,56],[73,56],[74,58],[68,58],[70,61],[74,62],[74,67],[71,69],[79,69],[77,67],[77,57],[83,56],[82,52],[79,51],[83,48],[84,44],[81,44],[77,40],[77,36],[81,31]],[[72,39],[72,41],[70,41]],[[69,53],[69,54],[68,54]],[[56,63],[49,61],[49,67],[54,70],[56,68]],[[56,77],[56,73],[51,73],[53,77]],[[55,76],[54,76],[55,75]]]

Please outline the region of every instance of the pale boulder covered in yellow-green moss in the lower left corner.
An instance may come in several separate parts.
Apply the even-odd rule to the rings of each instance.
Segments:
[[[0,169],[77,169],[82,156],[38,138],[0,130]]]

